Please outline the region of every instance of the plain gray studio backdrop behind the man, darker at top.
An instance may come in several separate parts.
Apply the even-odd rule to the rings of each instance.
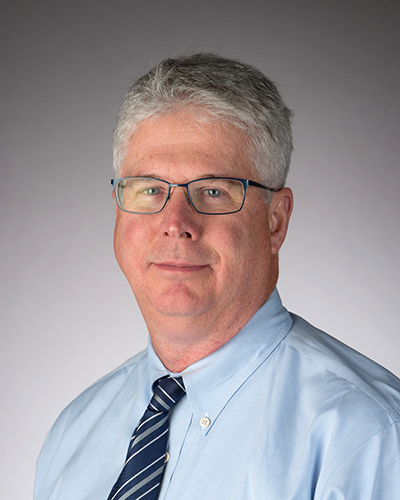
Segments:
[[[398,5],[0,3],[2,497],[31,497],[59,412],[146,344],[113,256],[109,144],[126,87],[167,55],[279,84],[296,146],[283,301],[400,375]]]

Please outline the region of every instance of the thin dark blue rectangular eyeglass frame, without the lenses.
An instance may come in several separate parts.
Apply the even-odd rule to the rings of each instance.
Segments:
[[[152,179],[154,181],[161,181],[161,182],[164,182],[165,184],[168,184],[168,193],[167,193],[167,196],[165,198],[165,202],[164,202],[163,206],[160,208],[160,210],[157,210],[156,212],[132,212],[130,210],[126,210],[125,208],[122,208],[121,205],[120,205],[120,202],[118,200],[118,195],[117,195],[116,191],[117,191],[118,182],[119,181],[123,181],[125,179]],[[231,180],[231,181],[239,181],[239,182],[241,182],[242,185],[243,185],[244,193],[243,193],[243,200],[242,200],[242,204],[240,205],[240,208],[238,208],[237,210],[234,210],[233,212],[201,212],[200,210],[197,210],[195,204],[193,203],[192,197],[190,196],[190,193],[189,193],[189,184],[192,184],[193,182],[198,182],[198,181],[201,181],[201,180],[207,180],[207,179],[212,179],[212,180],[221,179],[221,180]],[[171,197],[171,188],[173,188],[173,187],[184,187],[186,189],[186,193],[187,193],[189,204],[193,207],[193,209],[197,213],[203,214],[203,215],[229,215],[229,214],[236,214],[237,212],[240,212],[240,210],[242,210],[242,208],[243,208],[243,205],[244,205],[244,202],[245,202],[245,199],[246,199],[247,188],[249,186],[258,187],[258,188],[261,188],[261,189],[266,189],[268,191],[271,191],[272,193],[276,193],[277,191],[280,191],[280,188],[278,188],[278,189],[271,188],[269,186],[264,186],[263,184],[260,184],[259,182],[252,181],[250,179],[239,179],[237,177],[204,177],[204,178],[200,177],[199,179],[193,179],[192,181],[185,182],[183,184],[175,184],[175,183],[172,183],[172,182],[168,182],[168,181],[166,181],[164,179],[159,179],[157,177],[146,177],[146,176],[140,176],[140,177],[117,177],[117,178],[111,179],[111,185],[113,187],[115,201],[116,201],[116,203],[118,205],[118,208],[120,210],[122,210],[123,212],[126,212],[128,214],[136,214],[136,215],[152,215],[152,214],[159,214],[160,212],[162,212],[164,210],[166,204],[168,203],[170,197]]]

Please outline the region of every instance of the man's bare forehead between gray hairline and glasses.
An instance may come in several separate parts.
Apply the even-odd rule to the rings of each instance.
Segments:
[[[140,122],[128,142],[122,175],[173,182],[204,175],[254,178],[247,152],[246,137],[229,123],[179,112]]]

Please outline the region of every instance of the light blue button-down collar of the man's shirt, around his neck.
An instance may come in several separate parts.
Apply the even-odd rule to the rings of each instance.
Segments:
[[[214,353],[182,372],[195,419],[204,417],[208,433],[229,399],[287,335],[292,319],[275,289],[245,327]],[[169,372],[149,339],[149,396],[152,383]],[[200,428],[200,425],[199,425]]]

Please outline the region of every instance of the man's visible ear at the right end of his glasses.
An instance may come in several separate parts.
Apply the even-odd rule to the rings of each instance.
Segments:
[[[272,254],[277,254],[285,241],[292,210],[293,193],[291,189],[283,188],[274,193],[268,209]]]

